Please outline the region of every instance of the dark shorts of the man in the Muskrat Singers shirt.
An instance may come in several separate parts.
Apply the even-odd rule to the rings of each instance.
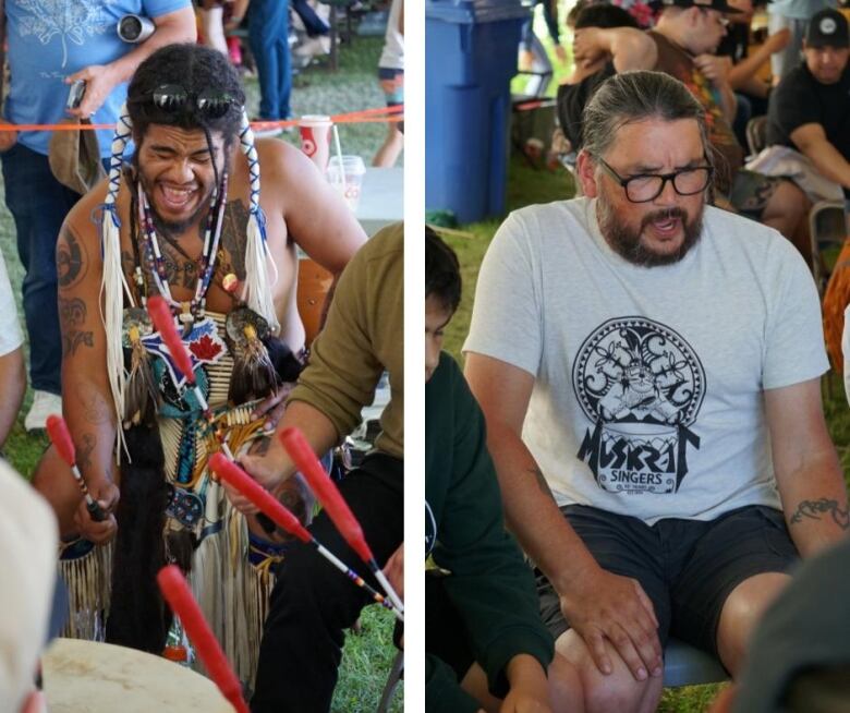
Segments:
[[[655,607],[661,645],[672,635],[716,655],[717,625],[732,590],[755,575],[786,572],[799,558],[782,513],[764,506],[652,527],[584,505],[561,511],[603,569],[641,583]],[[569,624],[554,588],[536,575],[541,616],[558,638]]]

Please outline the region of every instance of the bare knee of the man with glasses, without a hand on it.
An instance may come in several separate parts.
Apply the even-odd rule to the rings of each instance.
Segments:
[[[726,597],[717,626],[717,651],[733,676],[741,670],[753,628],[789,580],[781,572],[756,575],[742,581]]]

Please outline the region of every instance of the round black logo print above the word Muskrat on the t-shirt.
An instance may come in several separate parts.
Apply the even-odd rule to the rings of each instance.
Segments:
[[[705,372],[691,346],[645,317],[619,317],[584,341],[573,386],[591,421],[693,423],[705,395]]]

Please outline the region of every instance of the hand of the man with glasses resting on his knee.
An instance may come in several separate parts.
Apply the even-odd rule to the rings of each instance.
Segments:
[[[600,569],[560,599],[564,618],[587,644],[603,674],[614,670],[606,639],[636,680],[663,674],[658,619],[636,580]]]

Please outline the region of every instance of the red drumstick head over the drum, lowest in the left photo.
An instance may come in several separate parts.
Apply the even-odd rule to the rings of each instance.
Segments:
[[[186,580],[177,565],[168,565],[157,573],[157,583],[171,611],[180,617],[195,652],[207,667],[209,677],[218,686],[221,694],[230,701],[236,713],[248,713],[248,706],[242,698],[242,687],[230,667],[224,652],[221,651],[212,630],[204,619]]]

